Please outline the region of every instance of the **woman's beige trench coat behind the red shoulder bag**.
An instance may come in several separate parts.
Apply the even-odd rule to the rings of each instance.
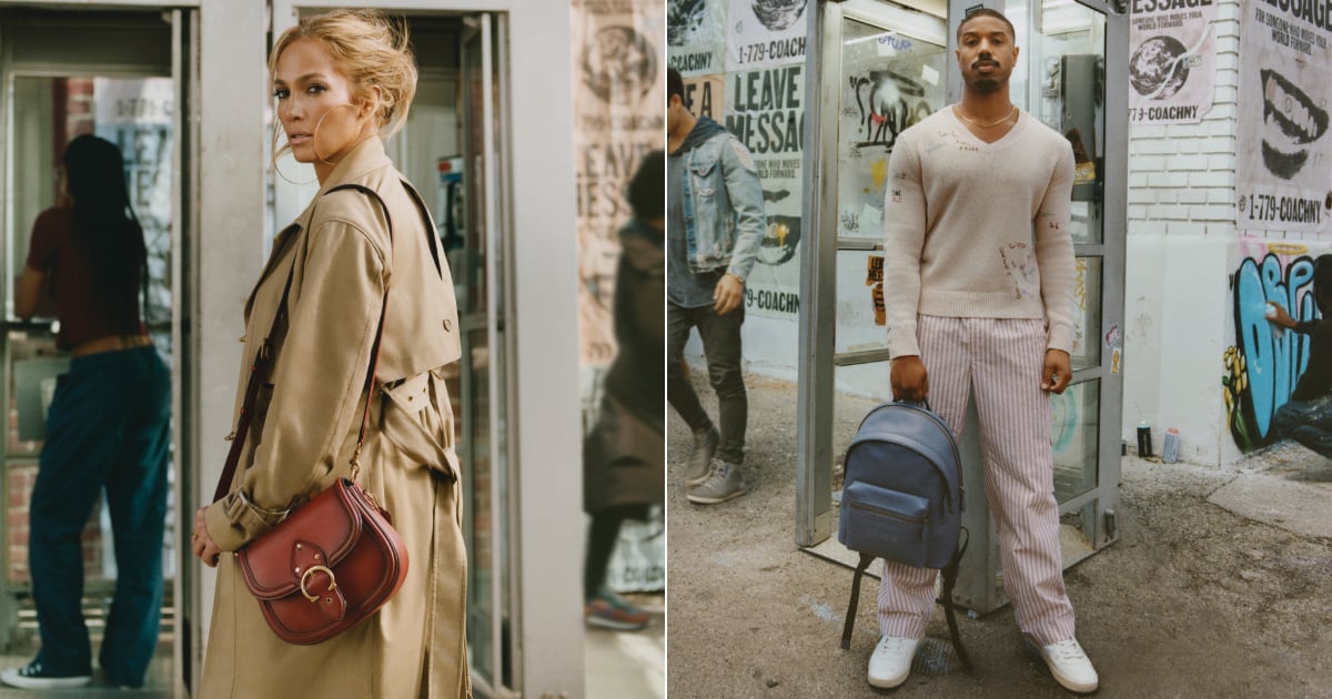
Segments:
[[[217,566],[217,595],[198,682],[204,699],[290,696],[470,696],[466,658],[466,553],[453,445],[453,409],[441,367],[460,355],[448,262],[436,269],[430,224],[372,138],[337,165],[306,210],[273,241],[245,306],[244,365],[277,316],[288,273],[288,321],[274,330],[269,379],[229,494],[206,513],[208,533],[234,551],[337,478],[350,473],[362,391],[385,284],[378,379],[361,454],[361,483],[377,494],[409,553],[402,588],[380,612],[317,646],[290,646],[264,622],[236,557]],[[393,222],[356,182],[376,190]],[[385,389],[385,386],[389,386]],[[225,445],[218,445],[222,449]]]

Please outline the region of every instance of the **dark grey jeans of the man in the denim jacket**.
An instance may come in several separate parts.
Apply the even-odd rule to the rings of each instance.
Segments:
[[[694,431],[713,425],[698,402],[694,386],[685,378],[685,344],[690,328],[698,328],[707,358],[707,378],[717,393],[718,431],[717,458],[739,465],[745,461],[745,426],[749,422],[749,397],[741,371],[741,325],[745,306],[718,316],[713,306],[686,309],[666,304],[666,399]]]

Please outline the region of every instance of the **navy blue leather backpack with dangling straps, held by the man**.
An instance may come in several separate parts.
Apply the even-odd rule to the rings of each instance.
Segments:
[[[952,430],[928,406],[890,402],[870,410],[846,450],[838,541],[860,554],[851,583],[851,602],[842,628],[842,648],[851,647],[851,627],[860,596],[860,577],[876,558],[918,569],[943,570],[943,604],[948,634],[963,667],[971,660],[958,636],[952,588],[962,541],[962,458]]]

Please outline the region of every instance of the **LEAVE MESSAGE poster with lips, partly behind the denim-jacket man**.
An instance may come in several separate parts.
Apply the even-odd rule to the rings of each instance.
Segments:
[[[805,65],[726,76],[726,128],[749,148],[763,181],[767,234],[745,284],[745,312],[795,318],[801,310]]]

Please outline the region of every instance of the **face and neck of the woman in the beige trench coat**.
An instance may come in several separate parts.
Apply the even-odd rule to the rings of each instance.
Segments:
[[[273,96],[292,156],[312,162],[320,182],[342,156],[374,133],[370,105],[353,104],[350,81],[312,39],[292,41],[277,57]]]

